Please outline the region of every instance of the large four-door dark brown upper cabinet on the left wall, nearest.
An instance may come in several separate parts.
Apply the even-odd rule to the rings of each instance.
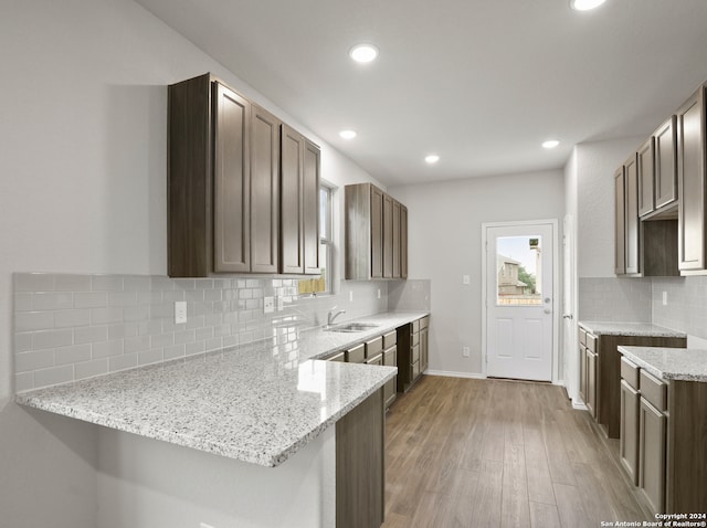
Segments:
[[[211,74],[170,85],[168,116],[168,274],[318,273],[318,147],[287,157],[292,129]]]

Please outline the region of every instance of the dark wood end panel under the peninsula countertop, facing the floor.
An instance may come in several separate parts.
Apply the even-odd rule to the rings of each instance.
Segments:
[[[336,423],[336,526],[379,528],[386,510],[383,389]]]

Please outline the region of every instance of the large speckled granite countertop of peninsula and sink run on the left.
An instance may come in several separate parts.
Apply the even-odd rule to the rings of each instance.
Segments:
[[[398,370],[316,358],[425,315],[363,317],[356,321],[378,327],[355,334],[281,326],[270,341],[23,392],[15,401],[274,467],[380,389]]]

